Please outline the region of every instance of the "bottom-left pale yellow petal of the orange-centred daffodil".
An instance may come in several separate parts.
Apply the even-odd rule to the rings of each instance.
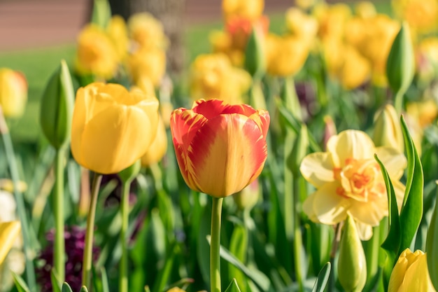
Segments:
[[[338,182],[325,183],[314,193],[313,211],[323,224],[334,225],[344,221],[347,216],[351,200],[337,195],[340,186]]]

